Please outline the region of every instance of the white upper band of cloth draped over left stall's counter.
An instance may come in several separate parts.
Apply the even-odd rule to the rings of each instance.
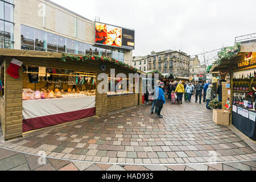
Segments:
[[[23,101],[22,115],[23,119],[31,119],[89,109],[95,106],[96,96],[28,100]]]

